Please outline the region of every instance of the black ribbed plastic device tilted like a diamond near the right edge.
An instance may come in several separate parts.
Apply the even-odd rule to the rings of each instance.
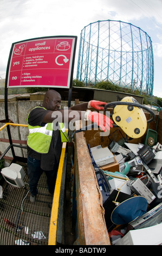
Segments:
[[[144,145],[137,154],[141,157],[141,159],[146,163],[150,163],[151,160],[155,157],[152,149],[148,145]]]

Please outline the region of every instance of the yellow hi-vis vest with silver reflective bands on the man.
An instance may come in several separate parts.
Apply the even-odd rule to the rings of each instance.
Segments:
[[[29,117],[29,114],[28,114],[28,117]],[[28,122],[28,117],[27,117],[27,122]],[[60,133],[61,133],[61,142],[69,142],[67,131],[64,128],[63,123],[59,123],[59,126],[60,126]],[[31,126],[28,124],[28,129],[29,129],[29,135],[27,140],[28,146],[38,153],[47,154],[49,151],[51,138],[53,135],[53,123],[48,123],[43,127]]]

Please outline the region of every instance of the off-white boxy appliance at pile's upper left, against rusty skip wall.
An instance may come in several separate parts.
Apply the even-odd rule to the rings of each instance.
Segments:
[[[114,156],[107,147],[102,148],[101,145],[98,145],[90,149],[91,149],[93,158],[99,167],[104,166],[105,164],[114,162]]]

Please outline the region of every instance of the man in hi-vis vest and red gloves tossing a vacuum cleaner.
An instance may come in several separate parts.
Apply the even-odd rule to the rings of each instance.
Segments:
[[[112,127],[112,120],[89,108],[103,109],[106,102],[89,101],[70,107],[67,111],[60,109],[61,95],[53,89],[47,91],[42,106],[31,109],[28,114],[29,135],[28,176],[30,201],[35,202],[38,193],[37,184],[43,172],[47,176],[48,191],[53,194],[56,174],[62,149],[62,142],[69,141],[64,121],[73,120],[73,112],[77,111],[77,120],[84,119],[97,123],[103,131]],[[99,121],[100,120],[100,121]],[[101,121],[102,120],[102,121]]]

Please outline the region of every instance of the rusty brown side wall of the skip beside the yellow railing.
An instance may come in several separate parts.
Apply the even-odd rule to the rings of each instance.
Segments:
[[[76,122],[77,123],[77,122]],[[105,224],[102,194],[83,132],[75,134],[75,182],[79,245],[111,245]]]

